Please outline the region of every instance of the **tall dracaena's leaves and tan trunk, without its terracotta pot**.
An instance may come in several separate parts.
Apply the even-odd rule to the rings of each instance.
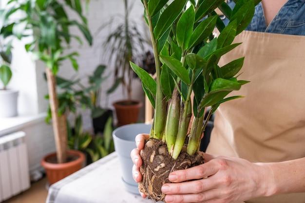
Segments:
[[[56,74],[61,63],[69,59],[75,70],[77,52],[66,54],[72,39],[79,43],[79,36],[70,32],[76,26],[88,43],[92,44],[92,36],[87,27],[87,19],[82,14],[80,0],[10,0],[6,5],[11,14],[22,13],[21,18],[14,19],[6,28],[11,28],[17,37],[30,35],[33,41],[25,45],[28,52],[33,52],[37,59],[45,64],[48,80],[50,106],[52,111],[53,129],[56,137],[57,162],[66,162],[67,127],[66,117],[58,113],[58,99],[56,91]],[[66,8],[70,7],[80,20],[70,19]],[[15,31],[15,32],[14,32]]]

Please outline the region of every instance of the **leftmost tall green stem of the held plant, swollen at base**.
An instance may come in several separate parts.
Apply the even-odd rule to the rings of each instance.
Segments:
[[[152,48],[153,48],[153,55],[154,55],[154,61],[155,61],[155,68],[156,68],[156,83],[157,83],[157,92],[156,92],[156,108],[155,108],[155,114],[154,114],[154,138],[161,139],[164,131],[164,126],[166,122],[166,112],[167,112],[167,105],[166,100],[164,99],[164,94],[161,89],[161,82],[160,82],[160,76],[161,76],[161,66],[160,66],[160,59],[159,59],[159,53],[157,49],[157,41],[154,38],[153,35],[153,27],[152,27],[152,18],[149,15],[148,12],[148,5],[147,1],[143,0],[144,7],[146,10],[147,18],[148,18],[148,24],[150,28],[150,34],[152,39]]]

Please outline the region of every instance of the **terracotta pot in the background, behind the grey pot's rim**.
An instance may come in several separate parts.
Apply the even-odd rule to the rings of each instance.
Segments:
[[[117,101],[114,104],[118,126],[133,124],[138,121],[140,108],[142,103],[140,101]]]

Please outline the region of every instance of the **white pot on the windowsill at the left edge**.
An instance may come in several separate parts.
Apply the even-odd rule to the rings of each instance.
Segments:
[[[0,117],[14,117],[18,115],[18,91],[0,90]]]

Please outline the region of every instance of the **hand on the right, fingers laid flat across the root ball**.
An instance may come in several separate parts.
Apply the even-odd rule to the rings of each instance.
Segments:
[[[162,186],[166,203],[235,203],[273,194],[267,165],[209,154],[205,160],[203,165],[170,174],[172,184]]]

